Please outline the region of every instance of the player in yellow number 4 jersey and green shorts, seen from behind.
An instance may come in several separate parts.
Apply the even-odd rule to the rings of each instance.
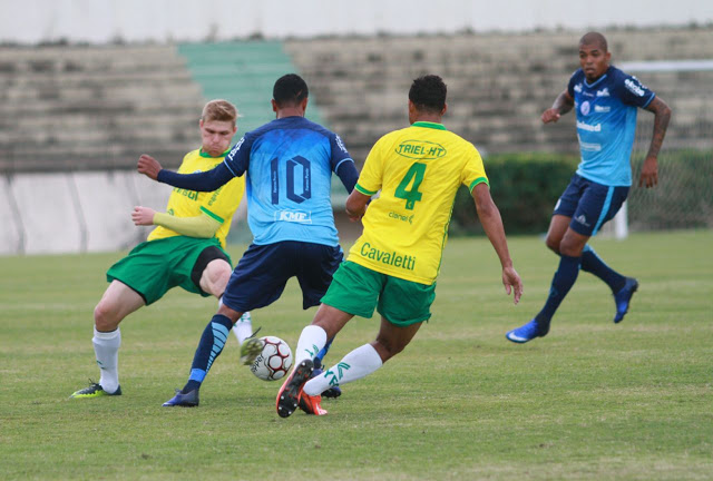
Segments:
[[[346,200],[351,219],[363,216],[363,234],[334,274],[312,325],[302,331],[295,369],[277,394],[280,416],[291,415],[297,406],[326,414],[320,393],[377,371],[430,318],[451,207],[461,185],[470,189],[500,259],[505,289],[508,294],[514,291],[516,304],[519,301],[522,283],[512,268],[480,155],[441,124],[446,91],[438,76],[413,80],[408,104],[411,126],[387,134],[371,149]],[[367,208],[379,190],[381,195]],[[314,354],[353,316],[371,317],[374,307],[381,314],[377,340],[307,381]]]

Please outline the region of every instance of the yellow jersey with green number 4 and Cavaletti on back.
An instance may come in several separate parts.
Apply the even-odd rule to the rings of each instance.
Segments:
[[[488,184],[472,144],[440,124],[416,122],[374,145],[354,187],[373,199],[349,261],[420,284],[433,284],[456,193]]]

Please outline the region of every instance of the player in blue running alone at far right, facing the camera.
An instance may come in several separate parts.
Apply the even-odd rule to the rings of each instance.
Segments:
[[[622,322],[638,288],[635,278],[625,277],[605,264],[587,242],[616,215],[628,195],[637,108],[654,114],[654,134],[638,180],[638,186],[646,188],[658,183],[656,158],[671,109],[636,77],[611,66],[611,57],[602,33],[582,37],[582,68],[573,73],[567,89],[559,94],[553,107],[543,112],[543,122],[549,124],[573,107],[576,109],[582,161],[555,205],[547,233],[547,247],[560,257],[549,296],[530,322],[506,334],[515,343],[547,335],[550,321],[577,279],[579,268],[599,277],[612,289],[616,305],[614,323]]]

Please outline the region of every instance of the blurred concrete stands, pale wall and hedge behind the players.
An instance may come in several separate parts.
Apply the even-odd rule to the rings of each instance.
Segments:
[[[361,167],[408,125],[411,80],[448,84],[446,126],[481,151],[509,234],[540,234],[578,163],[574,114],[539,116],[603,32],[613,63],[673,109],[660,185],[634,187],[619,230],[713,227],[713,2],[392,0],[0,0],[0,255],[126,249],[169,187],[135,173],[143,153],[177,167],[201,145],[206,100],[241,111],[238,134],[274,118],[276,78],[299,72],[307,117],[338,132]],[[639,110],[634,175],[653,115]],[[333,204],[344,240],[358,225]],[[252,239],[238,209],[233,242]],[[467,190],[451,235],[480,227]]]

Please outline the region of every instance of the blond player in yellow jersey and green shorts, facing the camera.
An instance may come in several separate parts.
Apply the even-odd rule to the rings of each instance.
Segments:
[[[231,102],[207,102],[198,124],[202,147],[186,154],[179,171],[208,170],[222,163],[237,131],[236,119],[237,110]],[[213,193],[174,189],[166,213],[134,208],[134,224],[157,227],[107,272],[109,287],[94,311],[92,343],[101,377],[71,397],[121,394],[119,323],[127,315],[155,303],[176,286],[221,298],[232,272],[231,258],[224,251],[225,236],[244,192],[244,179],[235,179]],[[241,342],[250,337],[252,330],[250,314],[243,321],[235,331]]]

